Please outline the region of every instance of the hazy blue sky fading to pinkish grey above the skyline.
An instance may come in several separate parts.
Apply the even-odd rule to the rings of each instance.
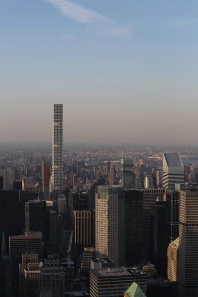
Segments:
[[[198,145],[197,0],[0,0],[0,143]]]

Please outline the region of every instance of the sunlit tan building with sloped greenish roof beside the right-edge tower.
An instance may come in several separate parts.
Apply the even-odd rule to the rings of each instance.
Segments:
[[[167,249],[168,269],[167,279],[171,282],[178,281],[178,249],[179,249],[179,237],[171,242]]]

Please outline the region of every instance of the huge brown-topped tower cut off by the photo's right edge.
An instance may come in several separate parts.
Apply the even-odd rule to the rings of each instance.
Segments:
[[[198,185],[180,191],[178,296],[198,296]]]

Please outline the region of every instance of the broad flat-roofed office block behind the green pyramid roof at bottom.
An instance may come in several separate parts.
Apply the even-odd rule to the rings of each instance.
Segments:
[[[138,268],[103,268],[90,270],[90,297],[123,296],[133,282],[146,294],[147,276]]]

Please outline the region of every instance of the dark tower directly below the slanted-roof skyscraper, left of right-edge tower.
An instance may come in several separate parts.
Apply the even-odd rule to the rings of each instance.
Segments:
[[[166,191],[166,244],[179,237],[179,192]]]

